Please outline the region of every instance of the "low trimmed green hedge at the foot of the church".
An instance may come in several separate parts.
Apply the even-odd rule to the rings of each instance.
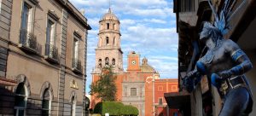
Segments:
[[[109,113],[109,115],[125,115],[125,116],[137,116],[139,111],[137,107],[131,105],[124,105],[121,102],[99,102],[96,104],[94,113],[100,113],[104,115]]]

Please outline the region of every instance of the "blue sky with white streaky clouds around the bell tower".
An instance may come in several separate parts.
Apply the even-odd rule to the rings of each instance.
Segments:
[[[95,67],[95,49],[98,41],[99,20],[108,13],[109,0],[69,0],[84,15],[92,30],[88,34],[86,93],[91,84],[91,71]],[[124,68],[127,55],[134,50],[148,58],[160,78],[177,78],[176,15],[172,0],[111,0],[113,14],[120,20],[121,48]]]

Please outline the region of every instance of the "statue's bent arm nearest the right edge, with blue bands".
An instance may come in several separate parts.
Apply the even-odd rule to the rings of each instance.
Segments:
[[[252,62],[236,43],[228,39],[224,45],[226,53],[231,56],[234,62],[236,62],[236,66],[232,67],[230,70],[220,73],[221,77],[227,78],[232,75],[241,75],[243,73],[247,73],[247,71],[253,68]]]

